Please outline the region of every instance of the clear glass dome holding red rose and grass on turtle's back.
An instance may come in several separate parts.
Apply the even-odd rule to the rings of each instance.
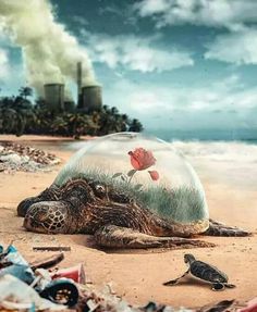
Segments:
[[[185,224],[209,217],[204,188],[192,165],[170,143],[154,137],[119,133],[88,141],[54,184],[84,177],[111,185],[161,217]]]

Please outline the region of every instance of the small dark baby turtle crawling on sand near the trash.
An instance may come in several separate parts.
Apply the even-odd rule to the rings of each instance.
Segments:
[[[212,290],[223,290],[227,288],[234,288],[235,285],[228,284],[229,277],[217,267],[207,264],[203,261],[196,260],[191,253],[184,255],[184,261],[189,265],[188,270],[180,277],[163,283],[164,286],[172,286],[179,283],[183,277],[191,274],[194,278],[211,284]]]

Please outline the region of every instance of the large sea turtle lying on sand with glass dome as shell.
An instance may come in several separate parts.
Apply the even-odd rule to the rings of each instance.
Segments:
[[[17,214],[27,230],[91,234],[109,248],[210,247],[191,237],[249,235],[209,220],[193,169],[162,141],[137,134],[87,143]]]

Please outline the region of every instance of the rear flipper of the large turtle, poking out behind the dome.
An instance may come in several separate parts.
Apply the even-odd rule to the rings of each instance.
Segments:
[[[227,226],[220,222],[209,220],[209,228],[204,233],[208,236],[249,236],[249,232],[234,226]]]

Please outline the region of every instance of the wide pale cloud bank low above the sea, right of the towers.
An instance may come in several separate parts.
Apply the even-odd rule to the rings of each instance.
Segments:
[[[105,100],[138,117],[146,128],[256,125],[250,112],[257,110],[257,87],[242,85],[236,75],[199,87],[136,84],[121,78],[105,88]]]

